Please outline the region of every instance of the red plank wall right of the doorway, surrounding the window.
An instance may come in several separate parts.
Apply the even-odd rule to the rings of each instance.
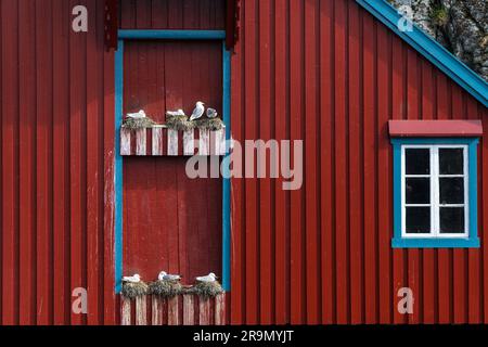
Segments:
[[[488,139],[479,249],[391,249],[387,120],[488,112],[354,0],[242,1],[234,139],[305,139],[305,182],[232,182],[233,323],[488,322]],[[415,295],[397,312],[397,290]]]

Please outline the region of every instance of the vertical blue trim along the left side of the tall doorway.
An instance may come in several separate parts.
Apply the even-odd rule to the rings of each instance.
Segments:
[[[120,155],[120,132],[124,102],[124,41],[118,41],[115,52],[115,293],[121,291],[123,277],[123,157]]]

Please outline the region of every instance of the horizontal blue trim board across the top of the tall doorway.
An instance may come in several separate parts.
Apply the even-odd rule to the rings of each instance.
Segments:
[[[120,40],[224,40],[226,30],[118,30]]]

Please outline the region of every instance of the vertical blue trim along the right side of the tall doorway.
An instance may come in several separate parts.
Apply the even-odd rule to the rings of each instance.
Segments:
[[[226,139],[230,139],[231,131],[231,53],[226,49],[226,42],[222,43],[222,65],[223,65],[223,123],[226,124]],[[227,154],[229,155],[229,154]],[[231,287],[231,216],[230,216],[230,178],[223,178],[222,191],[222,287],[226,292]]]

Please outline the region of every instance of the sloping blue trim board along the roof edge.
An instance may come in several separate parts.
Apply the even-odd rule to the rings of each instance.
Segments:
[[[434,38],[415,25],[411,31],[399,30],[397,24],[402,16],[391,4],[384,0],[356,0],[356,2],[488,107],[488,83]]]

